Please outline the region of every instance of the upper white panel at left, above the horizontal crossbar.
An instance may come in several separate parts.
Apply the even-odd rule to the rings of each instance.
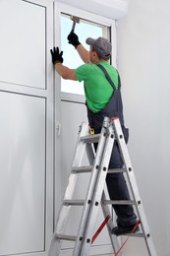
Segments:
[[[45,8],[0,1],[0,81],[45,88]]]

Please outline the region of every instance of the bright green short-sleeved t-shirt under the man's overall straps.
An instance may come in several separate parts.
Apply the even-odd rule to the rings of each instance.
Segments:
[[[118,88],[118,73],[108,61],[101,61],[116,88]],[[79,82],[85,82],[86,104],[92,112],[100,111],[108,103],[113,94],[113,88],[107,81],[103,71],[96,64],[84,64],[75,70]]]

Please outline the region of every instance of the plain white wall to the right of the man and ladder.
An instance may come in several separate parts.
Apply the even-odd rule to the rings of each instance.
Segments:
[[[169,24],[168,0],[131,0],[128,14],[118,22],[129,147],[158,256],[170,255]]]

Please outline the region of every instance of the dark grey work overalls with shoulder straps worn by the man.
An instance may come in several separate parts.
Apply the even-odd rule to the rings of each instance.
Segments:
[[[111,96],[110,101],[107,105],[97,113],[93,113],[87,107],[87,117],[88,122],[91,128],[94,129],[95,134],[100,133],[103,119],[105,116],[108,117],[119,117],[125,141],[128,142],[129,138],[129,130],[124,126],[124,116],[123,116],[123,103],[121,97],[121,82],[118,74],[119,82],[118,82],[118,90],[116,90],[115,85],[111,81],[110,77],[108,78],[108,74],[103,69],[101,65],[97,65],[104,72],[107,80],[110,82],[111,86],[114,89],[114,93]],[[97,144],[94,145],[95,149],[97,148]],[[123,160],[121,158],[121,154],[118,148],[117,142],[114,143],[113,151],[111,155],[111,159],[109,162],[109,168],[122,168]],[[129,200],[130,195],[128,192],[127,184],[124,178],[123,173],[108,173],[106,177],[106,183],[108,188],[108,193],[110,196],[110,200]],[[113,205],[115,213],[117,215],[117,224],[122,226],[128,226],[132,224],[136,224],[137,217],[134,213],[134,209],[130,205]]]

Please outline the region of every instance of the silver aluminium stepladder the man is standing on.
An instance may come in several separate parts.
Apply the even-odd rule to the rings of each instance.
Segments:
[[[124,160],[124,167],[122,169],[108,170],[112,148],[116,140],[119,144],[120,152]],[[92,148],[93,143],[98,143],[96,154],[94,154]],[[89,165],[82,166],[82,160],[85,152],[89,160]],[[73,195],[78,180],[78,174],[85,172],[91,173],[85,200],[75,200],[73,199]],[[114,172],[126,173],[133,197],[130,201],[106,200],[104,192],[105,178],[107,173]],[[119,119],[110,119],[105,117],[100,134],[90,135],[88,125],[83,123],[81,126],[74,155],[72,171],[69,176],[68,186],[66,188],[64,200],[61,206],[48,256],[60,255],[63,240],[75,241],[72,254],[73,256],[89,255],[91,239],[94,233],[99,206],[102,208],[104,217],[107,217],[111,216],[109,205],[114,204],[132,204],[136,206],[138,218],[141,223],[141,232],[134,233],[133,235],[142,237],[144,239],[149,256],[156,256]],[[65,234],[71,207],[78,205],[83,206],[84,208],[78,232],[76,235]],[[107,229],[109,232],[113,251],[116,253],[120,248],[120,243],[117,236],[112,235],[112,228],[113,223],[111,220],[109,220],[107,223]],[[117,255],[121,256],[122,253],[119,252]]]

